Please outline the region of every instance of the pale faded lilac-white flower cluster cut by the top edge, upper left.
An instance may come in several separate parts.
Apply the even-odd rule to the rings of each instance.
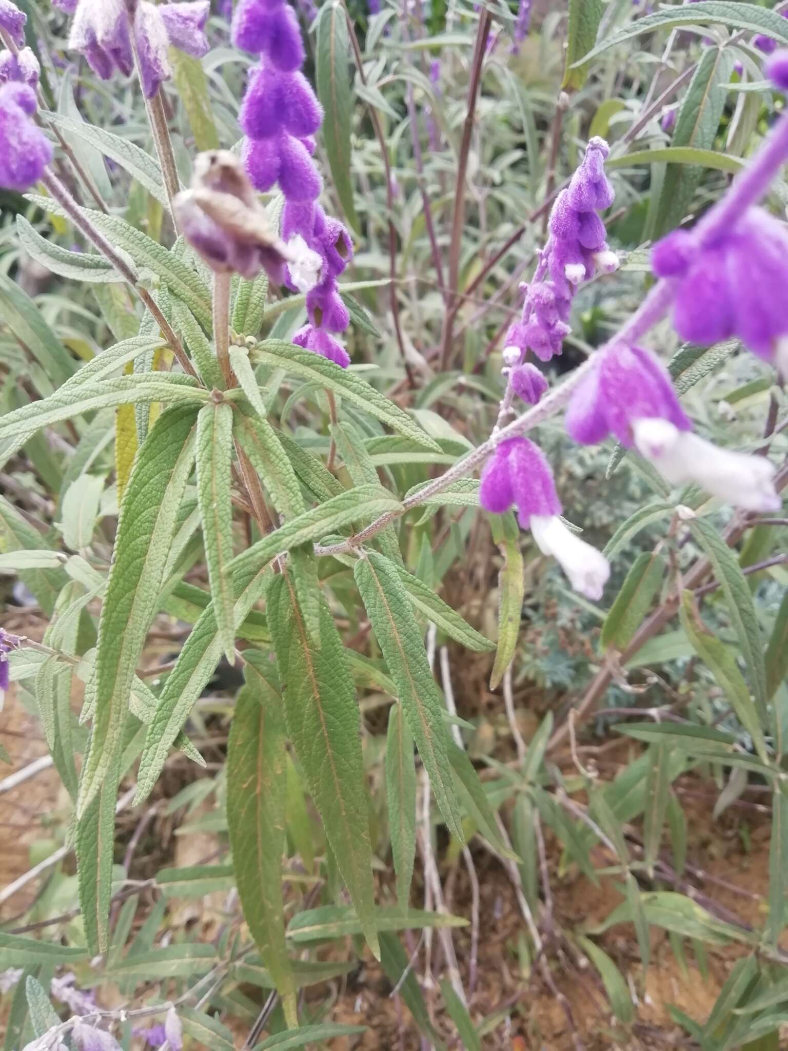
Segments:
[[[205,25],[210,13],[210,0],[162,5],[149,0],[128,5],[124,0],[53,2],[61,11],[74,14],[68,46],[81,51],[102,80],[109,80],[116,71],[128,77],[134,67],[137,50],[140,82],[148,99],[172,77],[167,54],[170,46],[194,58],[208,54]]]

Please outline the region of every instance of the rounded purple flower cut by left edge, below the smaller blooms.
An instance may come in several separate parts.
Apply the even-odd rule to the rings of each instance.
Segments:
[[[33,120],[36,92],[14,81],[0,85],[0,186],[23,192],[53,159],[49,140]]]

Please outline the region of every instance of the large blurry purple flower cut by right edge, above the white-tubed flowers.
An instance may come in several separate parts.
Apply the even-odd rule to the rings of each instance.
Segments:
[[[675,230],[655,245],[651,268],[673,288],[673,326],[683,339],[738,336],[760,357],[786,358],[788,231],[750,208],[711,244]],[[788,364],[788,362],[786,362]]]

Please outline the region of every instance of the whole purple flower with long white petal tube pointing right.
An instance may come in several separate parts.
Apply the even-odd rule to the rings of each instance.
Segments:
[[[692,434],[667,370],[639,347],[614,344],[593,358],[566,410],[566,430],[583,445],[613,434],[626,448],[635,446],[673,486],[696,482],[745,511],[781,507],[774,466]]]

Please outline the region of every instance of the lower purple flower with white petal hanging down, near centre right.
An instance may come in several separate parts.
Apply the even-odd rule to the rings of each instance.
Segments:
[[[544,453],[527,438],[501,441],[481,475],[479,499],[485,511],[502,514],[516,507],[544,555],[553,555],[575,591],[600,599],[610,568],[604,555],[561,521],[561,501]]]

